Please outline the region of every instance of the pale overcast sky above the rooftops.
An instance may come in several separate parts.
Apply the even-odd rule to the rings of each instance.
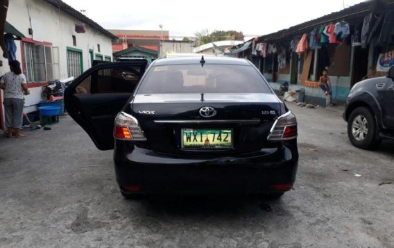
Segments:
[[[158,1],[63,0],[103,28],[168,30],[170,38],[207,30],[241,31],[246,39],[289,28],[365,0]],[[235,4],[237,3],[237,5]]]

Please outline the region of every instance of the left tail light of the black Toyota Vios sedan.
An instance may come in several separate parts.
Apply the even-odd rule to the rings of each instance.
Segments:
[[[144,131],[132,115],[121,112],[115,118],[114,138],[118,140],[145,141]]]

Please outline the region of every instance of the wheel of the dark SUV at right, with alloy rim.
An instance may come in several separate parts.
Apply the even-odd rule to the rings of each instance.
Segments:
[[[380,140],[377,139],[377,124],[370,110],[365,107],[356,108],[348,119],[348,136],[354,147],[361,149],[375,148]]]

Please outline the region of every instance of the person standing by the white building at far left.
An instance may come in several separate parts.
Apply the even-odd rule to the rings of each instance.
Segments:
[[[22,74],[21,64],[17,60],[9,63],[10,71],[0,80],[0,88],[4,90],[4,108],[6,113],[7,138],[15,135],[16,138],[24,137],[20,133],[23,120],[24,94],[30,94],[26,85],[26,77]]]

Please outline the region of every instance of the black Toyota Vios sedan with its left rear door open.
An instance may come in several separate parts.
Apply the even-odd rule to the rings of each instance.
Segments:
[[[189,57],[145,67],[100,64],[65,93],[96,147],[114,149],[124,197],[291,190],[297,122],[252,63]]]

